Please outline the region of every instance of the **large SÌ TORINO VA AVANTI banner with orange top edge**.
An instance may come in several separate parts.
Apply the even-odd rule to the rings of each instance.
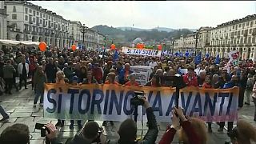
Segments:
[[[170,122],[175,88],[151,86],[46,84],[44,117],[122,122],[133,118],[134,106],[130,106],[130,98],[134,97],[135,90],[144,91],[158,122]],[[238,87],[225,90],[186,87],[180,90],[179,106],[186,115],[206,122],[236,121],[238,91]],[[138,120],[145,114],[139,106]]]

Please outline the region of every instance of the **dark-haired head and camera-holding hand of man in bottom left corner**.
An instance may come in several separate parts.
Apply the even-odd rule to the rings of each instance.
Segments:
[[[57,129],[48,123],[43,126],[46,134],[46,144],[58,144]],[[16,123],[13,126],[8,126],[0,135],[1,144],[27,144],[30,143],[31,135],[29,127],[22,123]]]

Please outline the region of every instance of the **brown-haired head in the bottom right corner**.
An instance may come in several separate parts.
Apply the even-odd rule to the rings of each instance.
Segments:
[[[239,120],[237,126],[228,133],[232,144],[251,144],[256,142],[256,128],[250,123]]]

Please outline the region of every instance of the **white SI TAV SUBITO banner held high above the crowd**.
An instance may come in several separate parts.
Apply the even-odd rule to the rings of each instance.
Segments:
[[[132,55],[143,55],[152,57],[161,57],[161,50],[150,50],[150,49],[135,49],[129,47],[122,47],[122,53]]]

